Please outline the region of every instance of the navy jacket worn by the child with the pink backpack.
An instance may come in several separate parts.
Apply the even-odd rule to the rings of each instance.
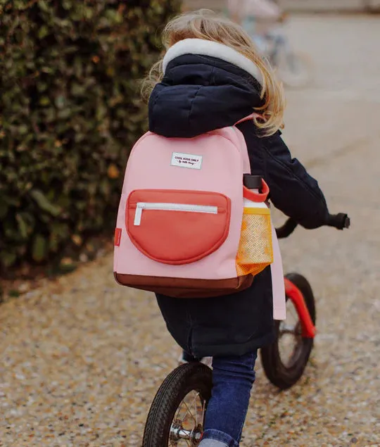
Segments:
[[[172,60],[149,101],[149,129],[165,137],[194,137],[234,125],[260,106],[260,84],[246,71],[209,56],[186,54]],[[239,125],[251,172],[270,187],[270,199],[305,228],[327,221],[317,182],[291,157],[281,132],[260,137],[253,122]],[[243,355],[274,337],[272,279],[268,267],[249,289],[215,298],[157,295],[167,328],[195,357]]]

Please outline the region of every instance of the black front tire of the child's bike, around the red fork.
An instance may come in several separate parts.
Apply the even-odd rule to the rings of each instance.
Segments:
[[[290,273],[289,275],[286,275],[286,278],[293,282],[293,284],[295,284],[302,292],[312,322],[315,324],[315,299],[308,280],[302,275],[298,275],[298,273]],[[277,334],[276,340],[273,344],[261,349],[261,363],[265,375],[272,384],[278,386],[279,389],[288,389],[296,384],[302,376],[308,363],[314,340],[300,336],[298,347],[293,352],[293,362],[290,362],[289,365],[285,365],[281,360],[279,351],[280,322],[277,321],[275,324]]]

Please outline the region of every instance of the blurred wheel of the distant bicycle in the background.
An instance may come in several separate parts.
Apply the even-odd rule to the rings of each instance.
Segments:
[[[306,54],[283,51],[277,56],[276,68],[286,87],[299,89],[312,82],[312,63]]]

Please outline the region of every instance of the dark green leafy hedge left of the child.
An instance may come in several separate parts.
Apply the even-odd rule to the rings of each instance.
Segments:
[[[0,270],[114,226],[178,0],[0,0]],[[9,270],[8,270],[9,271]]]

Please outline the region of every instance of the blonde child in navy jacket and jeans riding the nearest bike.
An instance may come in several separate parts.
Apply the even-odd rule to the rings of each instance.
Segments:
[[[262,119],[238,125],[252,174],[265,179],[274,206],[303,227],[327,223],[322,191],[281,139],[282,87],[248,34],[226,18],[198,11],[172,20],[163,42],[167,53],[148,78],[154,84],[149,129],[164,137],[191,138],[259,113]],[[213,395],[199,446],[239,446],[258,348],[274,340],[270,268],[233,295],[157,294],[157,300],[167,328],[188,357],[213,356]]]

